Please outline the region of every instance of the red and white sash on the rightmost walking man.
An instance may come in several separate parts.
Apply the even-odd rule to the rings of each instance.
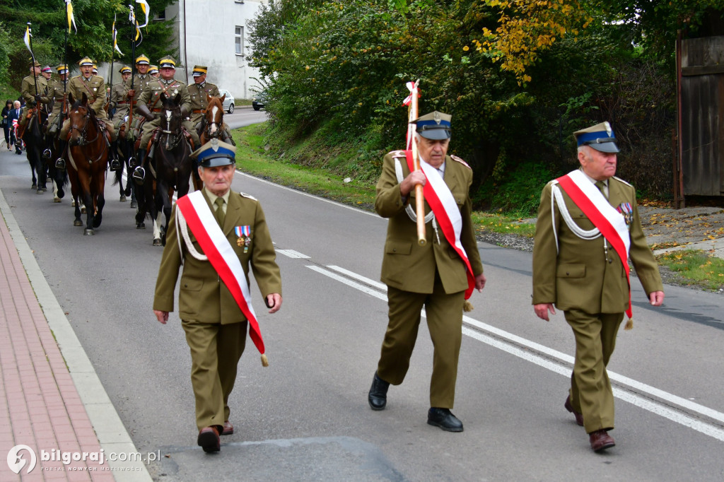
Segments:
[[[631,247],[631,236],[628,233],[626,219],[610,205],[598,187],[581,170],[576,169],[569,172],[556,181],[560,187],[563,187],[573,203],[584,211],[586,217],[598,228],[618,254],[623,269],[626,271],[626,282],[628,283],[626,315],[631,318],[631,279],[628,276],[628,250]]]

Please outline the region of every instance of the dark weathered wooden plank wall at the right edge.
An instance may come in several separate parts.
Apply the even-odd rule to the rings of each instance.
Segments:
[[[681,43],[684,195],[724,195],[724,36]]]

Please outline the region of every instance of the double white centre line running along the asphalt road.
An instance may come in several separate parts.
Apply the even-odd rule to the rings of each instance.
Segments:
[[[365,286],[363,284],[353,282],[348,278],[345,278],[343,276],[340,276],[339,274],[333,273],[332,271],[327,271],[326,269],[320,268],[319,266],[307,266],[307,267],[320,274],[324,274],[324,276],[329,276],[329,278],[332,278],[335,281],[346,284],[349,287],[358,289],[359,291],[364,292],[368,295],[374,296],[376,298],[379,298],[380,300],[387,301],[387,295],[385,293],[379,292],[376,289],[371,289],[369,287],[369,286],[374,286],[374,287],[380,288],[381,286],[384,287],[384,284],[375,282],[372,279],[366,278],[365,276],[361,276],[359,274],[355,274],[353,271],[348,271],[346,269],[340,268],[339,266],[327,266],[327,267],[329,269],[334,269],[334,271],[338,271],[340,273],[346,274],[347,276],[350,276],[351,278],[358,279],[361,282],[363,282],[369,286]],[[384,287],[384,289],[387,289],[387,288]],[[424,310],[422,312],[422,316],[425,316]],[[573,365],[573,357],[571,357],[570,355],[566,355],[563,352],[553,350],[552,348],[545,347],[542,344],[538,344],[536,342],[531,342],[528,339],[518,337],[517,335],[512,334],[512,333],[508,333],[508,331],[504,331],[504,330],[498,329],[494,326],[490,326],[489,324],[482,323],[481,321],[474,320],[473,318],[470,318],[469,316],[463,316],[463,322],[468,325],[475,326],[477,329],[481,329],[481,330],[489,332],[490,334],[494,334],[497,337],[508,339],[511,342],[515,342],[516,344],[520,344],[524,347],[529,347],[532,350],[536,350],[536,351],[544,353],[545,355],[549,355],[553,358],[557,358],[558,360],[561,360],[568,365]],[[523,360],[526,360],[526,361],[529,361],[536,365],[539,365],[540,367],[546,368],[547,370],[550,370],[552,372],[559,373],[560,375],[563,375],[566,377],[571,376],[570,366],[564,366],[564,365],[560,365],[558,363],[552,362],[542,356],[536,355],[532,352],[527,352],[526,350],[521,350],[521,348],[518,348],[518,347],[514,346],[513,344],[502,342],[499,339],[489,337],[488,335],[483,334],[480,331],[470,329],[466,326],[463,326],[463,334],[465,334],[468,337],[471,337],[473,339],[476,339],[479,342],[489,344],[490,346],[495,347],[499,350],[508,352],[508,353],[510,353],[510,355],[515,355],[518,358],[522,358]],[[688,400],[688,399],[685,399],[682,397],[678,397],[678,396],[676,396],[674,394],[670,394],[668,392],[664,392],[663,390],[657,389],[654,386],[643,384],[639,381],[630,379],[627,376],[620,375],[613,371],[609,371],[608,376],[610,379],[617,381],[619,384],[630,386],[631,389],[635,389],[639,392],[644,392],[646,394],[649,394],[654,397],[665,400],[666,402],[670,402],[674,405],[679,405],[680,407],[686,408],[686,410],[691,410],[692,412],[700,413],[700,414],[705,415],[714,420],[724,422],[724,413],[717,412],[716,410],[712,410],[709,407],[704,407],[704,405],[699,405],[698,403],[691,402],[691,400]],[[616,398],[622,399],[626,402],[636,405],[636,407],[643,408],[644,410],[648,410],[651,413],[660,415],[664,418],[668,418],[669,420],[672,420],[675,423],[679,423],[683,426],[692,428],[695,431],[698,431],[704,435],[708,435],[717,440],[724,441],[724,429],[714,426],[710,423],[705,423],[702,420],[696,420],[695,418],[692,418],[689,415],[685,415],[681,412],[672,410],[669,407],[665,407],[665,405],[662,405],[657,402],[653,402],[652,400],[649,400],[647,398],[633,394],[631,392],[627,392],[626,390],[618,389],[616,387],[614,387],[614,389],[613,389],[613,395]]]

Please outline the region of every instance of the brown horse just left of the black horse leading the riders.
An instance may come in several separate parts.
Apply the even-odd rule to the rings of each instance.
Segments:
[[[88,96],[83,93],[80,100],[70,96],[72,107],[68,111],[70,119],[70,140],[68,142],[68,177],[70,191],[75,201],[75,221],[73,226],[83,226],[80,221],[80,202],[85,204],[85,230],[83,234],[92,236],[101,225],[103,206],[106,203],[106,169],[108,168],[108,143],[104,136],[106,130],[99,125],[98,118],[88,105]]]

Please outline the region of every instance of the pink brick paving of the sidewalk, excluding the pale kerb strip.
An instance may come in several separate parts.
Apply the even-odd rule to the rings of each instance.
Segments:
[[[53,455],[54,449],[70,452],[66,457],[72,452],[101,454],[101,444],[4,220],[0,265],[0,481],[113,481],[111,472],[103,470],[108,465],[100,461],[64,465],[62,455],[42,457],[41,451]],[[28,450],[18,454],[25,460],[20,474],[2,460],[18,444],[35,452],[37,465],[30,473]]]

